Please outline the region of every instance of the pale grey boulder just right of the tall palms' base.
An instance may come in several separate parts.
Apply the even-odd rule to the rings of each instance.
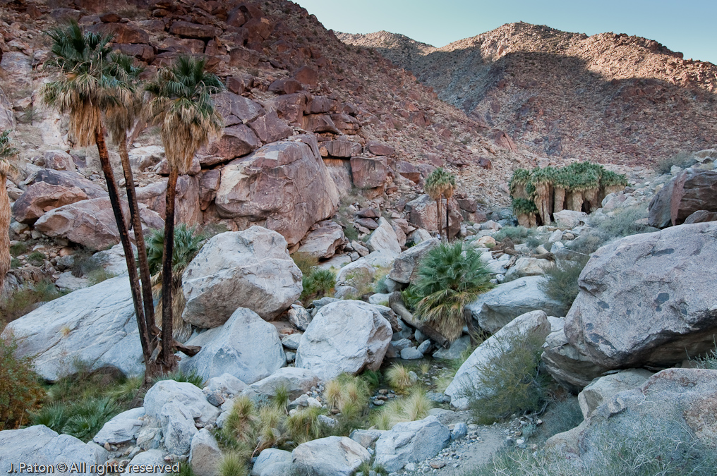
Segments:
[[[222,327],[196,335],[186,345],[201,346],[201,351],[182,358],[179,368],[194,371],[204,379],[231,373],[242,382],[253,384],[286,364],[274,325],[246,308],[237,309]]]

